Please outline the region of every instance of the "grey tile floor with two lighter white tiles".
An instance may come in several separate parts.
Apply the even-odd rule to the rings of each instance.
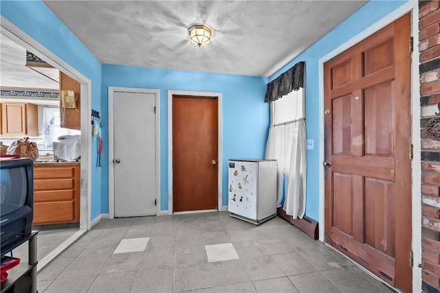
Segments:
[[[45,293],[393,292],[285,220],[228,212],[101,220],[37,280]]]

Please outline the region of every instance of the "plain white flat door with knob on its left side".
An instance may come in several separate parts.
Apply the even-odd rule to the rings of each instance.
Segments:
[[[155,94],[113,94],[115,217],[155,215]]]

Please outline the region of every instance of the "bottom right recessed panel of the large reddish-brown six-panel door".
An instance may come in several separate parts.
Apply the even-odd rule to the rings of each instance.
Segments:
[[[395,183],[365,178],[365,243],[395,257]]]

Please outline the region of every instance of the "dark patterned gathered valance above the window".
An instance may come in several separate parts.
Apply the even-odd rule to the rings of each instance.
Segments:
[[[305,62],[296,63],[291,69],[282,73],[278,78],[267,84],[264,102],[273,102],[291,91],[298,91],[304,87]]]

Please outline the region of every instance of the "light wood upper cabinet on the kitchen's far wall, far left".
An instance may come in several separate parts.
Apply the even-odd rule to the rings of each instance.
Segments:
[[[38,106],[29,103],[1,104],[1,134],[6,137],[38,137]]]

